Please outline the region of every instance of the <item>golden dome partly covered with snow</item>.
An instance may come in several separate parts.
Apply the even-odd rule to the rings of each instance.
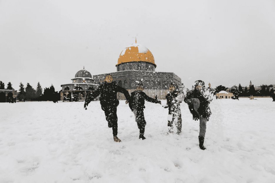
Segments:
[[[149,62],[156,66],[155,59],[151,51],[141,44],[131,44],[121,51],[116,66],[126,62],[137,61]]]

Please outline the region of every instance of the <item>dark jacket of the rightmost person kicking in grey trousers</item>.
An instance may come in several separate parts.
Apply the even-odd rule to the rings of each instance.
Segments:
[[[207,121],[208,121],[210,115],[212,114],[209,107],[210,102],[206,98],[204,98],[204,96],[201,94],[200,91],[196,89],[194,91],[189,91],[186,97],[184,98],[184,102],[188,104],[190,112],[191,112],[191,109],[194,108],[192,107],[193,105],[191,100],[192,98],[199,99],[199,109],[197,111],[201,117],[207,118]]]

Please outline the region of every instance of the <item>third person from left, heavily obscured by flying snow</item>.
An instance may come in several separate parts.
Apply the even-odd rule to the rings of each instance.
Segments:
[[[180,103],[183,99],[183,94],[179,91],[178,86],[174,83],[169,85],[169,93],[165,96],[168,105],[168,129],[169,133],[173,131],[173,123],[177,128],[177,134],[181,134],[181,109]]]

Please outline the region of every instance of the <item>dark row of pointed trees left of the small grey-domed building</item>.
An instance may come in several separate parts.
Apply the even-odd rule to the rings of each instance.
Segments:
[[[55,91],[54,86],[51,84],[49,88],[44,88],[43,89],[40,85],[40,83],[37,83],[36,89],[34,89],[29,83],[27,83],[26,88],[24,88],[24,84],[20,82],[19,85],[19,94],[17,95],[16,99],[19,101],[59,101],[60,100],[60,92],[62,89],[58,92]],[[0,81],[0,89],[5,90],[5,84]],[[7,90],[14,90],[12,88],[11,82],[8,83],[7,85]]]

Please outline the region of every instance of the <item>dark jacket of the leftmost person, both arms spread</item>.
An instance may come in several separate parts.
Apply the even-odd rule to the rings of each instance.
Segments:
[[[85,104],[88,105],[91,101],[93,101],[100,94],[100,104],[101,106],[108,106],[111,104],[117,104],[119,101],[117,100],[116,93],[121,92],[126,97],[126,100],[130,99],[129,92],[116,83],[111,82],[107,83],[106,81],[99,86],[99,88],[91,94],[88,94],[85,99]]]

